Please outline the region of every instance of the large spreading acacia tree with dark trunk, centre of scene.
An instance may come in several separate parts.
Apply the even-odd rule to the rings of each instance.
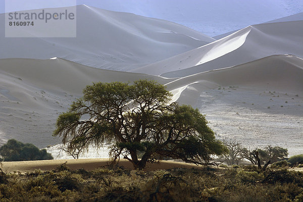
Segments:
[[[83,94],[58,117],[54,131],[74,157],[105,141],[113,143],[112,162],[122,156],[134,169],[167,157],[209,164],[212,155],[226,151],[204,115],[171,102],[172,94],[155,81],[98,82],[86,86]]]

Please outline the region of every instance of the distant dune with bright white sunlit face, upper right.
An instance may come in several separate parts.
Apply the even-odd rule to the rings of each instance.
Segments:
[[[303,57],[303,21],[246,27],[225,38],[133,70],[165,77],[184,77],[277,54]]]

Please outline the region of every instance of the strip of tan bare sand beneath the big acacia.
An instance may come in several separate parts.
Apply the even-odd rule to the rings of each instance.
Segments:
[[[108,166],[110,164],[109,159],[60,159],[60,160],[43,160],[43,161],[21,161],[21,162],[2,162],[2,170],[4,172],[13,173],[13,172],[32,172],[36,169],[42,171],[50,171],[56,169],[58,166],[64,164],[72,169],[84,169],[86,171],[95,170],[98,167]],[[124,159],[121,159],[118,163],[118,166],[123,166],[128,169],[133,169],[132,164]],[[200,169],[201,166],[196,166],[194,164],[187,164],[182,162],[174,161],[161,161],[160,163],[146,165],[145,171],[151,170],[166,170],[173,168],[196,168]]]

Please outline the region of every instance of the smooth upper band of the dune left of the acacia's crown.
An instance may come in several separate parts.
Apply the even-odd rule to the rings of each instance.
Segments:
[[[0,59],[0,71],[3,71],[4,75],[12,75],[44,90],[64,91],[76,96],[82,94],[82,89],[86,85],[96,81],[131,82],[137,79],[153,79],[165,84],[169,80],[174,80],[146,74],[91,68],[61,58]]]

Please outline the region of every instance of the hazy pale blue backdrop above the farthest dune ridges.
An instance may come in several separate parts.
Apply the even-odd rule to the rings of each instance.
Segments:
[[[0,13],[87,6],[176,22],[210,36],[303,12],[303,0],[0,0]]]

